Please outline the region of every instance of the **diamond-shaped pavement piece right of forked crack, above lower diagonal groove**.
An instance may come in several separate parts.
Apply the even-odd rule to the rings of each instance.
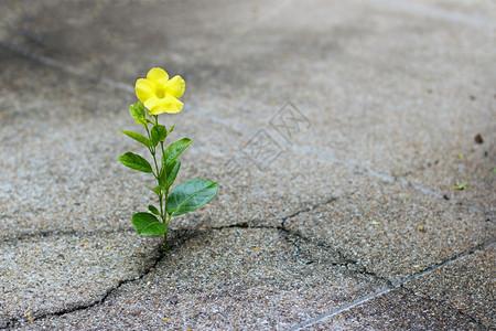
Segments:
[[[399,183],[370,183],[303,212],[287,228],[396,282],[494,238],[493,222]]]

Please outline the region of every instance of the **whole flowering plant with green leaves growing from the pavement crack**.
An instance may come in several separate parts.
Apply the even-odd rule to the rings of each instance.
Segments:
[[[175,114],[182,110],[185,82],[181,76],[169,79],[168,73],[159,67],[151,68],[147,78],[136,82],[136,95],[139,103],[129,107],[131,117],[144,127],[147,136],[133,131],[120,130],[129,138],[145,146],[153,158],[153,166],[143,157],[127,152],[118,158],[123,166],[137,171],[152,173],[157,185],[154,192],[159,206],[149,205],[149,212],[136,213],[132,225],[143,236],[164,236],[164,250],[168,250],[168,228],[173,216],[183,215],[211,202],[217,194],[217,183],[205,179],[192,179],[171,190],[181,168],[177,157],[193,142],[182,138],[165,147],[165,139],[174,130],[159,125],[159,114]],[[159,154],[160,153],[160,154]]]

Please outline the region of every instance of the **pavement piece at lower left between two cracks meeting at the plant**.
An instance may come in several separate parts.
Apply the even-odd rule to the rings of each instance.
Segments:
[[[126,232],[60,232],[2,241],[0,328],[91,306],[123,281],[138,279],[161,254],[162,241]]]

